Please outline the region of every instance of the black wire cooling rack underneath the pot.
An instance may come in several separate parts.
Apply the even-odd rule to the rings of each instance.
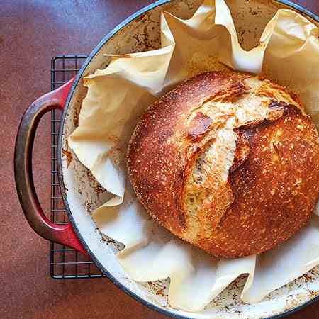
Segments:
[[[79,71],[85,55],[58,55],[51,60],[51,90],[69,81]],[[60,111],[51,111],[51,220],[57,224],[68,222],[57,177],[57,138]],[[89,257],[69,247],[50,243],[50,274],[55,279],[99,278],[103,274]]]

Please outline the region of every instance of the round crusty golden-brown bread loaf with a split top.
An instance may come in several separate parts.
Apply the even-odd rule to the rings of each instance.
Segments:
[[[318,199],[315,126],[296,96],[250,74],[177,86],[142,114],[127,159],[150,216],[216,257],[272,249]]]

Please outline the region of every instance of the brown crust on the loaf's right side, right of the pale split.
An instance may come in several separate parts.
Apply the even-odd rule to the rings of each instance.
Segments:
[[[287,106],[278,120],[240,131],[250,152],[230,173],[235,201],[216,235],[200,242],[216,256],[258,254],[284,242],[310,218],[318,199],[319,149],[309,118]]]

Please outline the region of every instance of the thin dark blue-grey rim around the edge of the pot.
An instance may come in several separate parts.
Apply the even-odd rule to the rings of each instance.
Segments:
[[[156,306],[155,304],[150,303],[149,301],[145,300],[144,298],[138,296],[136,293],[134,293],[133,291],[128,289],[126,286],[121,284],[120,281],[118,281],[110,272],[108,272],[106,267],[103,267],[103,265],[96,258],[95,254],[93,252],[91,252],[91,250],[89,249],[89,246],[86,244],[86,241],[84,240],[84,238],[82,237],[82,234],[79,232],[79,229],[77,228],[77,223],[75,223],[75,220],[74,220],[74,218],[72,216],[72,213],[71,213],[71,210],[69,208],[69,204],[67,202],[67,194],[66,194],[66,189],[65,189],[65,184],[64,184],[64,180],[63,180],[63,174],[62,174],[62,156],[61,156],[61,154],[62,154],[62,138],[63,138],[63,127],[64,127],[64,124],[65,124],[65,117],[67,116],[67,110],[69,108],[69,102],[72,99],[72,95],[73,95],[74,89],[77,86],[77,84],[79,83],[79,80],[82,78],[82,74],[84,73],[86,67],[89,65],[91,60],[95,57],[95,55],[101,50],[101,47],[103,47],[103,45],[108,40],[110,40],[113,37],[113,35],[118,33],[119,30],[124,28],[128,23],[134,21],[135,18],[138,18],[139,16],[142,16],[142,14],[146,13],[147,11],[150,11],[150,10],[154,9],[157,6],[161,6],[162,4],[167,4],[170,1],[171,0],[158,0],[158,1],[155,1],[153,4],[145,6],[144,8],[140,9],[139,11],[137,11],[137,12],[133,13],[132,15],[128,16],[128,18],[126,18],[124,21],[119,23],[118,26],[113,28],[113,30],[111,30],[111,32],[109,32],[99,42],[99,44],[96,45],[96,47],[91,52],[89,57],[87,57],[87,59],[85,60],[84,64],[82,65],[81,69],[79,70],[79,72],[77,74],[77,77],[74,79],[74,82],[72,84],[71,89],[69,90],[69,94],[67,96],[67,101],[65,102],[65,108],[64,108],[63,113],[62,113],[62,118],[61,118],[61,122],[60,122],[61,124],[60,124],[60,129],[59,129],[59,136],[58,136],[58,142],[57,142],[57,171],[58,171],[58,177],[59,177],[60,191],[61,191],[62,198],[63,198],[64,204],[65,204],[65,210],[67,211],[67,215],[69,217],[69,221],[72,223],[74,231],[77,234],[77,237],[79,238],[79,241],[82,243],[84,249],[86,250],[86,252],[89,253],[89,256],[94,261],[96,266],[98,266],[99,269],[101,269],[103,274],[105,274],[105,276],[108,279],[110,279],[113,282],[113,284],[118,286],[119,289],[121,289],[122,291],[127,293],[128,296],[133,297],[136,301],[142,303],[143,305],[147,306],[148,308],[151,308],[152,310],[156,310],[157,312],[162,313],[162,315],[169,315],[172,318],[189,319],[189,317],[186,317],[184,315],[179,315],[177,313],[173,313],[171,310],[168,310],[168,309],[165,309],[165,308],[160,308],[159,306]],[[294,3],[292,3],[289,0],[274,0],[274,1],[276,1],[276,2],[278,2],[280,4],[285,4],[287,6],[291,6],[291,8],[296,9],[300,13],[303,13],[304,15],[306,15],[306,16],[308,16],[310,18],[313,18],[313,20],[315,20],[315,21],[317,21],[319,23],[319,16],[315,15],[315,13],[312,13],[312,12],[308,11],[307,9],[303,8],[302,6],[299,6],[298,4],[294,4]],[[282,318],[282,317],[284,317],[286,315],[290,315],[291,313],[295,313],[296,311],[301,310],[301,308],[309,306],[311,303],[314,303],[315,301],[318,301],[318,299],[319,299],[319,295],[315,296],[314,298],[310,299],[309,301],[306,301],[305,303],[302,303],[300,306],[296,306],[295,308],[293,308],[291,310],[286,310],[283,313],[279,313],[278,315],[272,315],[271,317],[267,317],[267,319]],[[179,311],[179,310],[176,310],[176,311]]]

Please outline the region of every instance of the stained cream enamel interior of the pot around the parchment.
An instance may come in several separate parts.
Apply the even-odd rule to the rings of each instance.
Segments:
[[[84,64],[80,72],[81,78],[108,65],[108,58],[104,57],[103,53],[125,54],[157,49],[160,45],[160,12],[165,10],[180,18],[190,18],[201,2],[200,0],[158,1],[144,13],[136,13],[132,19],[124,21],[116,33],[108,39],[103,39],[103,44],[98,45]],[[258,44],[264,26],[274,16],[276,10],[287,8],[286,5],[271,0],[228,0],[227,3],[233,14],[240,43],[245,50],[250,50]],[[243,30],[250,30],[250,32],[245,32],[243,36]],[[106,198],[110,198],[110,195],[101,189],[74,154],[69,166],[67,159],[62,156],[62,149],[67,149],[67,136],[77,127],[82,99],[86,95],[81,78],[74,87],[72,95],[69,96],[60,130],[62,134],[58,149],[60,152],[58,156],[60,181],[66,208],[79,238],[84,242],[84,247],[91,252],[98,267],[111,280],[120,285],[122,289],[133,293],[135,298],[144,300],[144,303],[146,301],[148,306],[155,306],[157,310],[162,309],[167,315],[181,315],[187,318],[264,318],[292,310],[317,296],[319,267],[315,267],[301,278],[277,289],[264,301],[254,305],[240,301],[242,286],[245,284],[245,278],[240,277],[200,313],[186,313],[169,306],[167,303],[169,279],[157,281],[154,284],[139,284],[129,279],[117,262],[115,255],[123,245],[110,238],[103,238],[96,230],[96,225],[90,216],[90,212],[105,202]]]

